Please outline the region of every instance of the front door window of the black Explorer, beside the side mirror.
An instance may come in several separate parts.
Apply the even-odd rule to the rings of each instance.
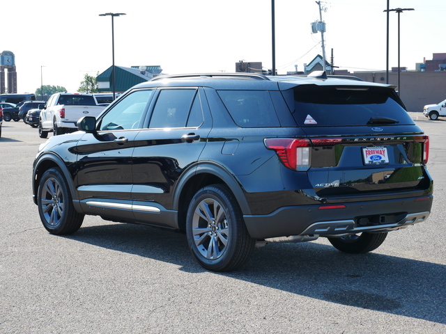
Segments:
[[[138,129],[153,90],[137,90],[123,97],[102,117],[99,129]]]

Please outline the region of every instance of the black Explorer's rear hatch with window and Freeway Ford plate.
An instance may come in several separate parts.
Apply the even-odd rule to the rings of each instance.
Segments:
[[[298,127],[295,168],[317,196],[363,200],[431,191],[429,137],[387,86],[300,85],[284,92]]]

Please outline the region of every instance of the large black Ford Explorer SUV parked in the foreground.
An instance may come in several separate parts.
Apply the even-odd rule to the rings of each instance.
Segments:
[[[85,214],[182,230],[203,267],[229,271],[256,242],[327,237],[369,252],[431,210],[429,137],[393,86],[324,73],[157,77],[78,128],[33,164],[53,234]]]

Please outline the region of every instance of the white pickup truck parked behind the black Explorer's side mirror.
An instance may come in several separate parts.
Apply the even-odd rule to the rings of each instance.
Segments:
[[[57,136],[77,131],[76,123],[80,118],[98,117],[104,109],[105,106],[98,106],[93,94],[53,94],[40,111],[39,136],[47,138],[48,132]]]

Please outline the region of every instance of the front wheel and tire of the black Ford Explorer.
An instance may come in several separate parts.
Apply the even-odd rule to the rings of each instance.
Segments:
[[[72,204],[68,184],[59,168],[49,168],[42,175],[37,204],[43,227],[51,234],[74,233],[84,221],[84,214],[79,214]]]

